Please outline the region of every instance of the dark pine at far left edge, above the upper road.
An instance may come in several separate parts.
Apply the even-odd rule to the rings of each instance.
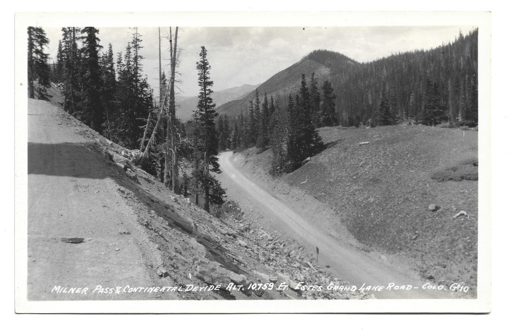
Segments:
[[[46,88],[50,87],[46,32],[40,27],[28,27],[28,97],[35,99],[34,81],[38,81],[37,94],[41,100],[49,100]]]

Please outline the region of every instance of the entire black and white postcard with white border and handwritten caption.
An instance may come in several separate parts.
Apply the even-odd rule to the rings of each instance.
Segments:
[[[490,311],[490,13],[293,14],[16,14],[17,312]]]

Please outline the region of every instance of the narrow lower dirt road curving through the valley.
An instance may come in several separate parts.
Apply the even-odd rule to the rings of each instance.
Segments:
[[[455,293],[449,288],[424,289],[427,281],[410,277],[400,270],[388,268],[378,261],[366,256],[360,250],[337,242],[319,229],[314,227],[309,220],[301,216],[297,206],[284,201],[265,191],[260,186],[242,174],[232,163],[233,152],[225,152],[219,155],[223,186],[228,191],[234,191],[235,199],[247,199],[263,213],[269,213],[276,219],[285,231],[295,239],[306,243],[309,247],[319,246],[320,265],[328,265],[331,274],[340,279],[349,281],[358,288],[367,286],[385,286],[382,291],[370,291],[379,299],[433,299],[452,298]],[[228,180],[225,180],[227,178]],[[389,284],[394,284],[387,289]],[[395,286],[411,285],[410,290],[395,289]]]

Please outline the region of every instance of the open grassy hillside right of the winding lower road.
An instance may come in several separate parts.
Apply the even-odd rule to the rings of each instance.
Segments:
[[[434,175],[478,160],[477,131],[399,125],[319,132],[328,148],[274,186],[304,190],[335,209],[335,230],[334,222],[322,225],[332,235],[342,222],[367,250],[395,254],[424,278],[475,287],[478,181]],[[255,155],[244,167],[267,172],[271,156]],[[478,165],[466,163],[468,170]],[[453,218],[461,210],[469,218]]]

